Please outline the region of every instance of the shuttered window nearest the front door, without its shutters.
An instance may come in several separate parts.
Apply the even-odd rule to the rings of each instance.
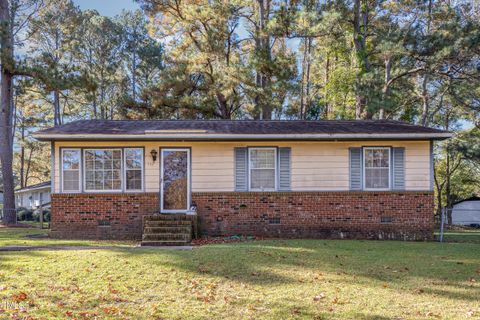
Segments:
[[[277,149],[250,148],[250,190],[276,189]]]

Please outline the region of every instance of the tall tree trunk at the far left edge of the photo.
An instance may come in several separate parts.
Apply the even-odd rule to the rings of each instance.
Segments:
[[[12,144],[12,83],[13,83],[13,39],[8,0],[0,0],[1,71],[0,71],[0,162],[3,176],[4,222],[16,223],[15,195],[13,181]]]

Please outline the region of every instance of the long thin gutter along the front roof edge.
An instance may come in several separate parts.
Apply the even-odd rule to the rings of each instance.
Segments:
[[[48,134],[34,133],[40,141],[52,140],[444,140],[453,136],[450,132],[438,133],[345,133],[345,134],[216,134],[216,133],[145,133],[145,134]]]

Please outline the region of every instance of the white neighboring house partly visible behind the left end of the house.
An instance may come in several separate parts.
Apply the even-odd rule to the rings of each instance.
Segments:
[[[17,208],[33,210],[38,209],[41,204],[44,208],[49,208],[51,191],[52,184],[50,181],[15,190],[16,206]]]

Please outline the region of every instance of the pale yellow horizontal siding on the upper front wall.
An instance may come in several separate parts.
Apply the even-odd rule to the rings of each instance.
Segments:
[[[130,142],[61,141],[55,143],[55,192],[60,192],[60,148],[144,147],[145,191],[158,192],[160,154],[155,163],[150,151],[160,147],[190,147],[192,150],[192,191],[234,191],[234,147],[291,147],[293,191],[330,191],[349,188],[349,148],[389,146],[405,148],[406,190],[430,188],[429,141],[352,141],[352,142]]]

